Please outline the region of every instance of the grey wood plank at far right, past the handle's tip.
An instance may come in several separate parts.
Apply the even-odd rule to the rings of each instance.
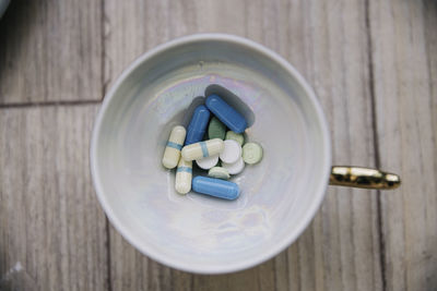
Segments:
[[[387,290],[436,290],[437,5],[375,0],[370,19],[380,163],[403,179],[380,196],[385,281]]]

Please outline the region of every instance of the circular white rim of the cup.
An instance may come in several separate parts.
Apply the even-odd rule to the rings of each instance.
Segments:
[[[110,203],[106,199],[106,195],[104,194],[102,181],[99,179],[99,170],[97,167],[97,138],[101,132],[102,128],[102,122],[103,118],[105,116],[105,112],[110,104],[110,100],[113,99],[114,95],[120,87],[120,85],[126,81],[127,77],[143,62],[147,61],[149,59],[155,57],[156,54],[161,53],[162,51],[165,51],[167,49],[181,46],[188,43],[201,43],[201,41],[224,41],[224,43],[232,43],[235,45],[239,46],[245,46],[247,48],[250,48],[261,54],[264,54],[268,57],[270,60],[276,62],[285,71],[294,77],[299,85],[303,87],[305,94],[307,95],[307,98],[309,98],[312,107],[315,108],[318,117],[318,123],[321,128],[322,132],[322,141],[324,141],[324,147],[323,147],[323,160],[322,160],[322,167],[323,169],[323,174],[322,179],[319,181],[319,185],[316,187],[316,195],[315,198],[311,202],[310,207],[308,207],[307,213],[305,214],[304,218],[298,222],[298,226],[290,232],[288,235],[285,237],[285,239],[281,240],[276,244],[272,245],[270,250],[265,250],[265,252],[260,253],[259,256],[253,256],[245,260],[239,260],[237,263],[233,264],[227,264],[225,266],[197,266],[197,265],[190,265],[190,263],[187,262],[181,262],[179,259],[175,259],[174,257],[166,256],[166,254],[161,255],[158,253],[154,253],[153,250],[150,250],[146,247],[146,245],[141,244],[140,242],[135,241],[128,231],[125,230],[122,223],[118,219],[118,217],[114,214],[113,207],[110,206]],[[109,221],[113,223],[113,226],[116,228],[118,232],[121,233],[121,235],[131,244],[133,245],[137,250],[139,250],[142,254],[145,256],[164,264],[166,266],[184,270],[184,271],[189,271],[189,272],[196,272],[196,274],[226,274],[226,272],[234,272],[243,269],[247,269],[253,266],[257,266],[273,256],[277,255],[282,251],[284,251],[286,247],[288,247],[292,243],[294,243],[298,237],[302,235],[302,233],[305,231],[305,229],[308,227],[308,225],[312,221],[314,217],[316,216],[317,211],[320,208],[320,205],[324,198],[326,195],[326,189],[328,186],[328,181],[329,181],[329,174],[330,174],[330,168],[331,168],[331,138],[328,130],[328,123],[326,120],[326,116],[323,113],[323,110],[321,108],[320,102],[318,101],[316,94],[314,89],[308,85],[308,83],[305,81],[305,78],[300,75],[300,73],[286,61],[283,57],[277,54],[276,52],[272,51],[271,49],[255,43],[253,40],[240,37],[240,36],[235,36],[235,35],[229,35],[229,34],[213,34],[213,33],[208,33],[208,34],[193,34],[193,35],[187,35],[182,37],[175,38],[173,40],[166,41],[164,44],[161,44],[153,49],[149,50],[147,52],[141,54],[133,62],[131,62],[127,69],[125,69],[121,74],[117,77],[116,82],[111,85],[110,89],[108,93],[105,95],[105,98],[103,100],[103,104],[98,110],[97,118],[94,123],[93,128],[93,133],[92,133],[92,141],[91,141],[91,147],[90,147],[90,166],[91,166],[91,174],[92,174],[92,180],[94,184],[94,189],[97,195],[97,199],[101,203],[103,209],[105,210],[106,216],[108,217]]]

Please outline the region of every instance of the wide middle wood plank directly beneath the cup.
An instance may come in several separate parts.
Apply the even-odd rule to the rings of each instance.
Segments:
[[[280,52],[314,85],[333,140],[333,161],[375,166],[365,2],[105,1],[105,83],[170,38],[222,32]],[[154,263],[110,229],[114,290],[381,290],[375,191],[329,189],[304,235],[275,258],[223,276]]]

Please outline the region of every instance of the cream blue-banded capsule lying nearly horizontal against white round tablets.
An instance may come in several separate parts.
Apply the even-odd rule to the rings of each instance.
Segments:
[[[185,146],[181,155],[186,160],[202,159],[209,156],[218,155],[223,151],[223,141],[220,138],[213,138]]]

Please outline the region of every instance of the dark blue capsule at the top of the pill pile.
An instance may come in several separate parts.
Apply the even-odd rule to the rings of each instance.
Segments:
[[[246,119],[217,95],[206,98],[206,107],[233,132],[241,133],[246,130]]]

